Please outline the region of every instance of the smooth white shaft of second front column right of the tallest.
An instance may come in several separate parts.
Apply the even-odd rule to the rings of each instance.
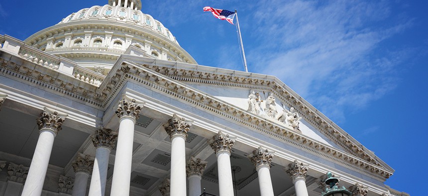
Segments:
[[[218,189],[220,196],[233,196],[232,170],[230,166],[230,153],[217,152]]]

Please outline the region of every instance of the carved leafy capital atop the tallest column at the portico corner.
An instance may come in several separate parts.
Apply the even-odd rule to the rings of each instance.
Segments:
[[[139,114],[143,105],[144,102],[137,103],[135,99],[130,99],[125,95],[122,95],[122,98],[119,100],[117,105],[116,115],[119,118],[127,116],[136,120],[140,117]]]

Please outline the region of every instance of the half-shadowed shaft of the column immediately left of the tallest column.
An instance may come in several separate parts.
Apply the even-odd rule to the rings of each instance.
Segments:
[[[89,196],[104,196],[106,193],[108,158],[110,149],[98,147],[95,150],[94,170],[92,170]]]

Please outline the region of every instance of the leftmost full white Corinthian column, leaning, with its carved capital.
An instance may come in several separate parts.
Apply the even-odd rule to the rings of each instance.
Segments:
[[[65,117],[67,117],[67,115],[58,114],[58,112],[50,111],[47,108],[44,108],[40,115],[37,120],[39,139],[37,140],[30,170],[22,190],[23,196],[41,195],[54,138],[61,130],[61,125],[65,121]]]

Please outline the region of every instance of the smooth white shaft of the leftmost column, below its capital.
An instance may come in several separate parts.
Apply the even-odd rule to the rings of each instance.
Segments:
[[[55,136],[55,131],[51,129],[40,130],[22,196],[40,196],[42,194]]]

